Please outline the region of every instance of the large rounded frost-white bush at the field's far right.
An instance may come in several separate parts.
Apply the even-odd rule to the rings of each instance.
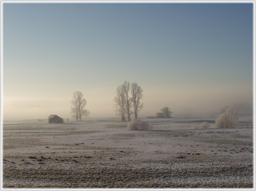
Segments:
[[[228,107],[215,121],[216,128],[234,128],[237,126],[237,114],[232,107]]]

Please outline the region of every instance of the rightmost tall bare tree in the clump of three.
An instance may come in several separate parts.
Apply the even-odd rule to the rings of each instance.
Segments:
[[[142,88],[136,82],[132,83],[131,93],[135,119],[137,119],[139,111],[143,109],[143,103],[140,103],[140,100],[143,98],[142,92]]]

